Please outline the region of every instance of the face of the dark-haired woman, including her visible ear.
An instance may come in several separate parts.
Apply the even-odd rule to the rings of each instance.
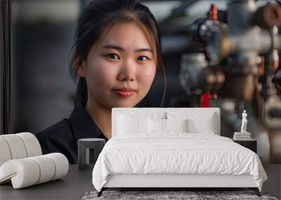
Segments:
[[[115,25],[91,47],[80,76],[88,101],[108,109],[134,107],[150,90],[156,63],[145,33],[135,23]]]

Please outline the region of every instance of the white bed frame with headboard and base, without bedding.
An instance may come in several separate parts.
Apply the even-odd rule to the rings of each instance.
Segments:
[[[155,112],[168,111],[184,111],[184,112],[215,112],[216,113],[216,135],[220,135],[220,109],[218,107],[212,108],[113,108],[112,109],[112,137],[116,135],[117,114],[133,112],[134,114],[147,114]],[[167,190],[171,188],[190,188],[190,187],[248,187],[256,192],[257,196],[261,196],[259,188],[254,182],[253,175],[178,175],[178,174],[118,174],[109,175],[107,182],[103,186],[98,196],[102,194],[105,189],[120,187],[163,187]]]

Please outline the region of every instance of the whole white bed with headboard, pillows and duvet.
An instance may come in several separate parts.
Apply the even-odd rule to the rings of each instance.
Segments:
[[[266,179],[257,154],[220,136],[219,108],[114,108],[112,138],[93,168],[98,196],[110,187],[249,187],[260,195]]]

